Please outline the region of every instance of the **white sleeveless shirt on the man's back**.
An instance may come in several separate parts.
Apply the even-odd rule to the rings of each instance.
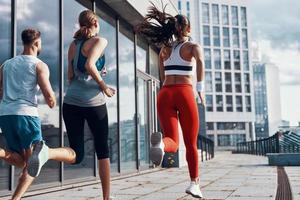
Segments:
[[[38,116],[36,66],[39,62],[42,61],[35,56],[19,55],[3,64],[0,115]]]

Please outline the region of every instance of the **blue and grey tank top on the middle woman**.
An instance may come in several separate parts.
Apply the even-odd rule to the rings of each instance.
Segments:
[[[87,73],[85,69],[85,63],[87,57],[85,57],[81,50],[85,40],[77,40],[76,54],[74,60],[72,60],[72,66],[74,70],[74,78],[70,82],[70,85],[66,91],[64,97],[64,103],[80,106],[80,107],[95,107],[105,104],[105,95],[100,89],[97,82]],[[97,62],[96,67],[98,71],[101,71],[105,64],[104,55],[101,56]]]

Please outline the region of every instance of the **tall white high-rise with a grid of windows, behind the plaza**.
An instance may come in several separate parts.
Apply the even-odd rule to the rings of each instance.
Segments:
[[[199,31],[192,37],[202,45],[205,60],[207,135],[216,146],[230,148],[254,135],[247,7],[229,0],[193,3],[199,19],[192,24],[199,27],[192,29]]]

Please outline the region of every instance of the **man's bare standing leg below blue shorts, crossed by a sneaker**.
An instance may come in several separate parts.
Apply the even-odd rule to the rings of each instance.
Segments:
[[[23,158],[27,162],[28,158],[31,156],[32,150],[27,149],[23,152]],[[20,200],[25,192],[28,190],[29,186],[32,184],[34,178],[29,176],[27,171],[27,166],[24,167],[23,172],[19,178],[18,186],[12,196],[12,200]]]

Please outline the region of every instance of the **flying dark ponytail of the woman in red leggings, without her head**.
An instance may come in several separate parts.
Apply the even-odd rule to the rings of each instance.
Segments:
[[[136,26],[137,33],[159,46],[171,46],[176,33],[176,18],[166,13],[165,9],[166,6],[160,11],[152,3],[143,22]]]

